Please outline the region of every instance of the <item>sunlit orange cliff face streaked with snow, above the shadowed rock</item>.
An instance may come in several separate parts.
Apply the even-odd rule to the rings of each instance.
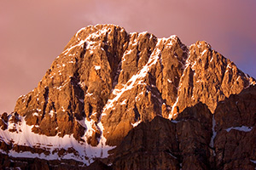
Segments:
[[[15,112],[2,115],[0,126],[3,133],[24,133],[20,124],[26,122],[33,133],[114,146],[141,122],[175,119],[198,103],[214,113],[219,101],[254,84],[207,42],[187,47],[176,36],[88,26],[67,43],[38,87],[20,96]]]

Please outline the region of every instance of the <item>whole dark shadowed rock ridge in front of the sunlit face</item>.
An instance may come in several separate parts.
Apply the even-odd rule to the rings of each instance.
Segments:
[[[199,103],[173,121],[156,116],[112,150],[113,169],[254,169],[255,103],[251,87],[219,103],[214,115]]]

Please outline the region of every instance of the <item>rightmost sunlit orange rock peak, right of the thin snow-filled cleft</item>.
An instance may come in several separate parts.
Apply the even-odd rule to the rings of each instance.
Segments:
[[[250,84],[255,84],[255,80],[241,72],[230,59],[212,50],[207,42],[196,42],[189,47],[177,106],[183,111],[201,101],[213,113],[218,101],[228,98],[230,94],[240,94]]]

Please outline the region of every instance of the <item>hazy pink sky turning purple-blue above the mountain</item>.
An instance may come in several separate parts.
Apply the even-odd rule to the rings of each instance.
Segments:
[[[0,113],[36,88],[81,27],[115,24],[157,37],[205,40],[256,77],[255,0],[53,0],[0,2]]]

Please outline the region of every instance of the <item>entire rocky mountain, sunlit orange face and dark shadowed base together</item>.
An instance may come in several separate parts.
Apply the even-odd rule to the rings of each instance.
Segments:
[[[0,120],[2,167],[254,169],[256,84],[204,41],[79,30]]]

